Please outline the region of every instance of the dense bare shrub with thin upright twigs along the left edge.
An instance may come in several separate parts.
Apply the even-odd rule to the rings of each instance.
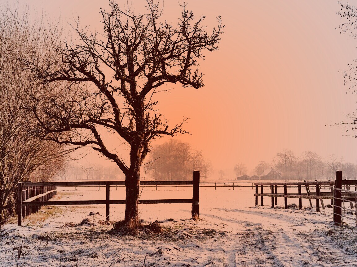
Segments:
[[[45,181],[63,167],[62,146],[30,133],[37,120],[24,109],[32,103],[39,81],[21,70],[18,57],[37,50],[38,28],[26,13],[2,6],[0,12],[0,225],[14,211],[14,191],[22,180]],[[42,51],[41,53],[42,54]]]

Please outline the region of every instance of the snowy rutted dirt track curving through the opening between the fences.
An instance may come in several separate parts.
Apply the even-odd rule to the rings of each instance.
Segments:
[[[202,214],[231,228],[230,266],[356,266],[355,255],[323,234],[335,226],[315,215],[271,209],[211,209]]]

